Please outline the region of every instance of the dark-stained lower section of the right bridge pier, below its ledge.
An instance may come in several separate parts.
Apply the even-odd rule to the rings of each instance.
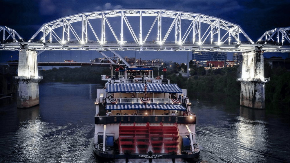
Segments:
[[[240,105],[253,109],[265,108],[265,83],[256,81],[241,82]]]

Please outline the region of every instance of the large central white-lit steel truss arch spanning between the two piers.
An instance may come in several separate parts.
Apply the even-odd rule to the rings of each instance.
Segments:
[[[93,23],[95,20],[99,23]],[[205,46],[206,49],[218,50],[233,48],[242,39],[253,44],[239,25],[223,19],[199,13],[153,9],[104,10],[70,15],[43,24],[29,42],[37,38],[44,43],[41,45],[44,49],[69,50],[77,47],[101,51],[193,51],[192,45],[194,49],[204,49]]]

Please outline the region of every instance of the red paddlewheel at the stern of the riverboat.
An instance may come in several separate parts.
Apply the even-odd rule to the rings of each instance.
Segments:
[[[121,153],[172,153],[178,152],[179,131],[177,123],[173,126],[119,126],[117,140]]]

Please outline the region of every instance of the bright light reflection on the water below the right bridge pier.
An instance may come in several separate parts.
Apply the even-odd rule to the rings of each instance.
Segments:
[[[240,116],[236,118],[237,153],[248,162],[264,162],[263,154],[269,150],[264,117],[265,110],[240,107]]]

